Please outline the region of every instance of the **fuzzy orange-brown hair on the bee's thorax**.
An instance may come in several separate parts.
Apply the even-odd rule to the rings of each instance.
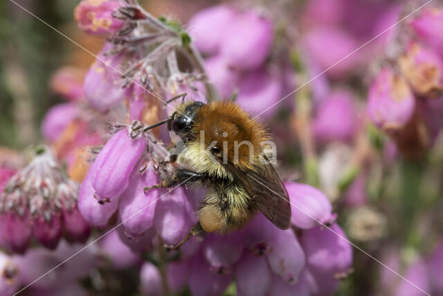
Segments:
[[[219,157],[226,157],[244,171],[253,169],[263,157],[263,142],[269,140],[262,125],[233,102],[217,101],[200,107],[193,130],[199,143],[204,131],[205,148],[216,142]]]

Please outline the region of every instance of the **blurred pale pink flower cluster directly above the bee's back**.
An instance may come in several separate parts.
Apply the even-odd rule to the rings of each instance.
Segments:
[[[257,115],[293,87],[287,83],[289,63],[271,57],[275,28],[270,15],[222,4],[197,13],[189,30],[221,98],[235,96],[239,105]],[[276,110],[263,116],[269,118]]]

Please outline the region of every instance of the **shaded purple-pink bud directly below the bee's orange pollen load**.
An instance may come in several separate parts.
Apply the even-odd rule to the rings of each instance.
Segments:
[[[212,270],[228,272],[230,265],[235,263],[244,250],[242,234],[233,232],[220,235],[210,233],[206,236],[203,252]]]

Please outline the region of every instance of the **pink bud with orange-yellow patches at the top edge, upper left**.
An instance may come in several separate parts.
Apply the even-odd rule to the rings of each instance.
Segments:
[[[103,35],[116,33],[123,21],[116,19],[112,14],[123,6],[120,1],[82,0],[74,10],[74,19],[77,26],[85,33]]]

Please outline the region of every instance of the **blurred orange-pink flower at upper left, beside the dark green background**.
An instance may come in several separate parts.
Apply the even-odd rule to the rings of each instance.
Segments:
[[[62,67],[53,73],[49,82],[53,92],[69,101],[80,101],[84,98],[84,71],[75,67]]]

